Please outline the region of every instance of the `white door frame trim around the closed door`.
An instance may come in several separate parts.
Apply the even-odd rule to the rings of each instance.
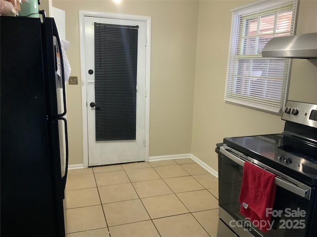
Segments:
[[[83,166],[88,167],[88,121],[87,121],[87,80],[85,64],[85,16],[133,20],[146,22],[146,76],[145,76],[145,161],[149,161],[150,138],[150,73],[151,73],[151,20],[150,16],[136,16],[119,13],[79,10],[79,45],[80,45],[80,76],[81,104],[83,121]]]

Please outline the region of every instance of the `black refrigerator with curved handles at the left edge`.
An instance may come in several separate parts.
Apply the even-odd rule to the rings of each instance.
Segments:
[[[0,236],[65,237],[65,83],[53,18],[0,17]]]

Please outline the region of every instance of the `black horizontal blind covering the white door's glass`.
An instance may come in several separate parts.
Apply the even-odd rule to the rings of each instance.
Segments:
[[[135,140],[138,26],[95,22],[96,141]]]

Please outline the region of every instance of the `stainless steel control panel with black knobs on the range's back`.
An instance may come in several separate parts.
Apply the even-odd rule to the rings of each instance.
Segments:
[[[282,119],[317,128],[317,105],[288,100]]]

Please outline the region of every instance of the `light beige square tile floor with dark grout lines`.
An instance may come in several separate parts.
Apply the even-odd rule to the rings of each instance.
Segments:
[[[67,237],[216,237],[218,180],[190,158],[68,174]]]

